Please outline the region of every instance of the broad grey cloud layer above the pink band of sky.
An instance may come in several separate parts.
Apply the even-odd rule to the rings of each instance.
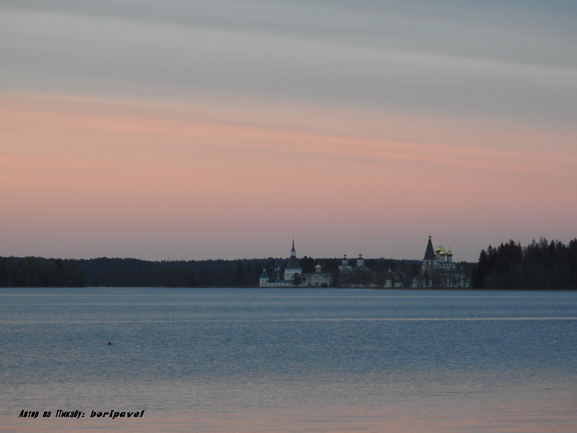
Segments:
[[[511,24],[490,19],[490,2],[444,14],[418,2],[18,4],[27,8],[0,15],[4,90],[229,92],[566,122],[576,114],[570,13],[537,20],[519,8]]]

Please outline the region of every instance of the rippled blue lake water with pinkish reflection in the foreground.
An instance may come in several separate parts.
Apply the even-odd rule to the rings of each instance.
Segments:
[[[575,292],[3,289],[0,431],[574,433],[576,336]]]

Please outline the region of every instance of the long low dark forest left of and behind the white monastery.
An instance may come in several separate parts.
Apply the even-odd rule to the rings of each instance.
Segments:
[[[351,260],[351,263],[353,260]],[[319,263],[325,273],[338,274],[339,258],[299,259],[302,271],[314,272]],[[269,277],[284,270],[285,258],[242,260],[171,260],[149,262],[138,259],[44,259],[43,257],[0,257],[2,287],[257,287],[265,266]],[[366,259],[376,273],[391,271],[417,275],[420,260]],[[407,285],[408,287],[408,285]]]

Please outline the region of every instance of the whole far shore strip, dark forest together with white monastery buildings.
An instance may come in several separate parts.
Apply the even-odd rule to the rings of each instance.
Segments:
[[[287,257],[143,260],[121,257],[0,257],[0,287],[374,288],[577,290],[577,238],[541,237],[482,249],[478,262],[455,261],[441,241],[421,259]]]

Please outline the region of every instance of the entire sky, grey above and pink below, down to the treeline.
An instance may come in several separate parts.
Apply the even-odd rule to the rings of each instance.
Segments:
[[[577,2],[0,0],[0,256],[577,236]]]

